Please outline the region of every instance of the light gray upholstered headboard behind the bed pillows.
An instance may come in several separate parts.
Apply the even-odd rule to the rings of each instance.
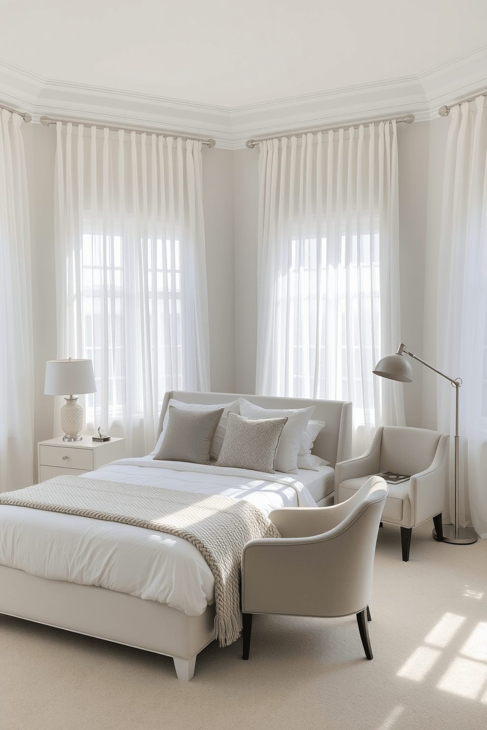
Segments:
[[[159,417],[158,436],[162,431],[164,414],[169,399],[183,403],[220,404],[245,398],[262,408],[307,408],[314,406],[311,418],[324,420],[325,426],[318,434],[312,453],[321,456],[335,466],[352,456],[352,404],[348,401],[322,401],[306,398],[281,398],[280,396],[250,396],[245,393],[201,393],[199,391],[168,391],[164,396]]]

